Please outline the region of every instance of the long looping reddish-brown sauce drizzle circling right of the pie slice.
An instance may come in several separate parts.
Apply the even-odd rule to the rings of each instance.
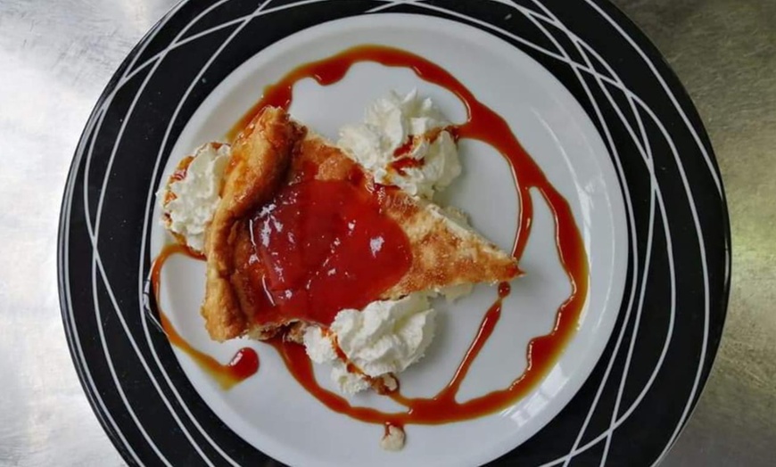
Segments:
[[[466,378],[469,367],[474,363],[499,322],[502,300],[509,293],[508,284],[502,284],[499,287],[499,297],[485,313],[480,329],[458,365],[458,370],[435,397],[407,398],[401,396],[398,391],[391,394],[394,400],[407,406],[406,412],[386,414],[372,408],[351,406],[343,397],[318,385],[312,364],[303,347],[280,339],[272,340],[271,343],[283,356],[285,365],[294,378],[312,396],[335,412],[347,414],[363,422],[390,423],[396,426],[409,423],[437,424],[462,421],[499,411],[514,404],[520,397],[524,397],[528,391],[535,388],[557,361],[565,344],[577,329],[588,291],[587,256],[571,208],[565,198],[549,184],[541,168],[524,151],[507,122],[479,102],[458,79],[433,62],[399,49],[380,45],[361,45],[324,60],[302,65],[276,84],[268,86],[260,102],[257,102],[252,111],[237,122],[230,135],[236,135],[256,113],[266,106],[278,106],[287,110],[293,101],[293,85],[302,78],[314,78],[322,86],[331,85],[342,79],[351,66],[360,61],[375,61],[389,67],[409,68],[419,78],[447,88],[456,94],[461,102],[464,102],[468,119],[465,123],[448,129],[456,139],[472,138],[497,149],[508,160],[515,177],[520,209],[516,213],[511,213],[518,217],[513,255],[515,258],[523,255],[531,233],[533,206],[529,191],[535,189],[541,193],[555,218],[557,251],[561,265],[571,283],[572,292],[557,310],[554,330],[531,340],[526,350],[528,366],[524,373],[516,375],[515,380],[507,388],[475,397],[464,403],[456,401],[455,396],[461,382]],[[406,147],[405,151],[409,151],[410,148],[411,146]],[[507,368],[504,370],[508,371]]]

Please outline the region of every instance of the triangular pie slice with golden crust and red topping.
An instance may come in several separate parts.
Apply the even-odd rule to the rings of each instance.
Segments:
[[[515,258],[442,210],[375,184],[280,109],[239,135],[205,239],[211,338],[301,340],[343,309],[516,277]]]

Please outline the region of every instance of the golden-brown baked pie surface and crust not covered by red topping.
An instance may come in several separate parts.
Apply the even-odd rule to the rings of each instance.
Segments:
[[[282,329],[300,334],[304,324],[261,323],[263,266],[254,256],[249,218],[280,184],[310,164],[318,180],[343,180],[359,166],[339,148],[310,135],[285,111],[269,108],[237,137],[225,174],[219,207],[205,240],[207,282],[202,315],[211,338],[248,335],[268,339]],[[438,207],[398,189],[376,190],[386,216],[407,234],[412,265],[399,283],[376,299],[398,299],[414,291],[461,283],[497,283],[516,277],[516,260],[474,231],[455,224]]]

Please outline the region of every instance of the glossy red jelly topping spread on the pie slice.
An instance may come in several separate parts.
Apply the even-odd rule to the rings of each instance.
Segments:
[[[252,242],[265,270],[265,323],[293,315],[327,326],[343,309],[366,307],[412,263],[407,235],[359,177],[286,185],[253,217]]]

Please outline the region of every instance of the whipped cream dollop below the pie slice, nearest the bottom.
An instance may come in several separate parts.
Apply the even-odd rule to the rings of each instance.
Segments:
[[[342,392],[354,394],[370,387],[369,378],[403,372],[420,360],[433,340],[435,313],[423,292],[375,301],[360,311],[339,312],[326,331],[310,326],[304,345],[310,360],[332,365],[332,380]],[[348,372],[348,363],[359,371]]]

